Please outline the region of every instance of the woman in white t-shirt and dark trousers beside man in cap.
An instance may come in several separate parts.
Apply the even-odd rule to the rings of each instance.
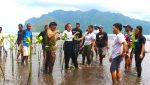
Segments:
[[[91,65],[92,56],[94,51],[96,35],[93,33],[93,25],[88,26],[87,33],[84,36],[83,53],[82,53],[82,65],[85,64],[85,57],[87,57],[88,66]]]

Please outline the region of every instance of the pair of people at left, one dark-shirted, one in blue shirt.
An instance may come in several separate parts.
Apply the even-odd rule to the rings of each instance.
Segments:
[[[18,28],[19,28],[19,31],[18,31],[18,36],[16,40],[16,44],[18,45],[18,52],[17,52],[16,60],[18,61],[18,58],[21,55],[22,63],[26,61],[26,64],[28,64],[28,57],[30,56],[29,43],[32,42],[31,24],[28,23],[26,25],[26,29],[23,29],[22,24],[19,24]],[[27,39],[29,40],[27,41]]]

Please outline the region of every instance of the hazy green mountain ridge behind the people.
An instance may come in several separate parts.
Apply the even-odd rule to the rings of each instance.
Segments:
[[[76,22],[80,22],[81,29],[84,31],[89,24],[101,24],[105,27],[106,32],[112,33],[112,25],[120,22],[123,25],[130,24],[134,28],[137,25],[142,25],[144,34],[150,33],[150,22],[132,19],[119,13],[100,12],[97,10],[85,12],[56,10],[38,18],[31,18],[25,23],[30,22],[33,25],[33,31],[40,32],[43,30],[44,25],[49,24],[51,21],[56,21],[60,30],[64,30],[64,25],[68,22],[72,23],[73,27]]]

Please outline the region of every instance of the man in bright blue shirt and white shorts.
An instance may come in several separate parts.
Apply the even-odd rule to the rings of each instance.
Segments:
[[[23,32],[23,58],[22,63],[26,60],[26,64],[28,64],[28,57],[30,56],[30,46],[29,43],[32,42],[32,32],[31,32],[31,24],[28,23],[26,25],[27,29]]]

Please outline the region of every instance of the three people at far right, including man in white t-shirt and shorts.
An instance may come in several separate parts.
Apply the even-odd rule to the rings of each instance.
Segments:
[[[123,26],[126,34],[123,35],[122,24],[113,24],[113,33],[116,34],[112,45],[112,54],[110,57],[110,72],[112,75],[112,81],[116,82],[120,80],[121,69],[120,63],[125,57],[125,70],[131,66],[133,54],[135,54],[135,65],[137,70],[137,77],[141,77],[142,72],[142,60],[145,56],[145,43],[146,38],[143,36],[142,26],[136,26],[135,31],[130,25]]]

